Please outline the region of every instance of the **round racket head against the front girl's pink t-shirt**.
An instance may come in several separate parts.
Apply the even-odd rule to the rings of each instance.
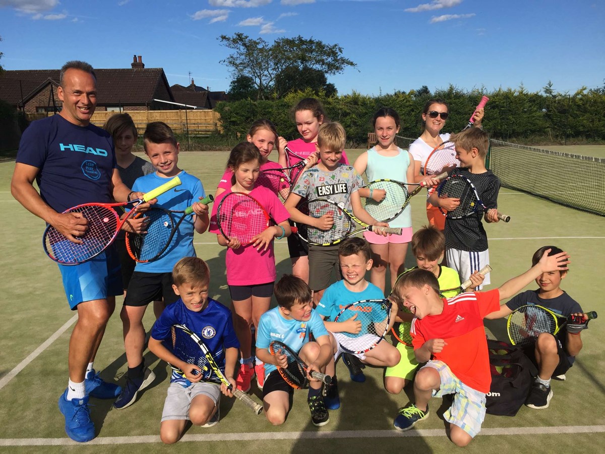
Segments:
[[[218,204],[217,223],[227,241],[237,238],[245,246],[269,227],[269,214],[254,197],[229,192]]]

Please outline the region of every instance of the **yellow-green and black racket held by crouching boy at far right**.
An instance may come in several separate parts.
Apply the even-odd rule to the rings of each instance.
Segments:
[[[588,320],[597,318],[597,312],[587,312]],[[506,320],[506,331],[513,345],[528,346],[543,332],[557,335],[572,316],[556,314],[537,304],[526,304],[512,311]]]

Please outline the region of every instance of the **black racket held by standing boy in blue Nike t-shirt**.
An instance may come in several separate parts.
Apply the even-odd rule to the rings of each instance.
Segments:
[[[214,196],[206,196],[200,203],[209,205]],[[145,234],[126,232],[126,250],[133,260],[139,263],[153,262],[162,257],[164,252],[175,239],[175,233],[181,222],[192,214],[193,207],[188,206],[183,211],[154,207],[145,213],[138,213],[134,217],[145,216],[149,218]],[[179,216],[180,215],[180,216]]]

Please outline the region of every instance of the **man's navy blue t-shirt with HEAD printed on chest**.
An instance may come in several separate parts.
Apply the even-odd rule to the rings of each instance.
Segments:
[[[19,143],[16,162],[39,168],[42,200],[55,211],[90,202],[111,202],[116,156],[110,134],[53,115],[31,123]]]

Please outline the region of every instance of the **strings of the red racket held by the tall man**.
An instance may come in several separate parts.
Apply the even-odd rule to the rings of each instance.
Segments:
[[[87,220],[87,231],[78,237],[82,243],[66,239],[56,228],[49,226],[44,235],[48,252],[59,262],[80,263],[99,254],[116,235],[119,224],[117,212],[106,206],[80,206],[70,212],[79,212]]]

